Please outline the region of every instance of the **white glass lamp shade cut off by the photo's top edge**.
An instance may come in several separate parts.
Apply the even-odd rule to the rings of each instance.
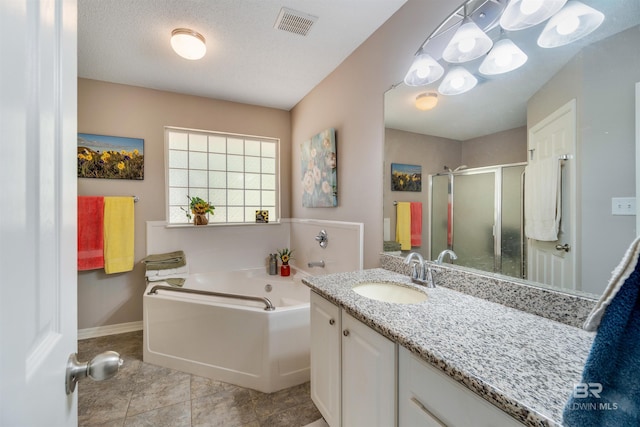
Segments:
[[[507,31],[524,30],[546,21],[562,9],[567,0],[512,0],[500,17]]]

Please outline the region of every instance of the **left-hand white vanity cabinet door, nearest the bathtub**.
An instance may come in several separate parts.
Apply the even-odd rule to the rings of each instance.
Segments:
[[[340,309],[311,292],[311,400],[331,427],[340,426]]]

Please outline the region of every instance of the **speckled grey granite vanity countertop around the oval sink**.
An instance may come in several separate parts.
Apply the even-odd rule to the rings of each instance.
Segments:
[[[302,281],[528,426],[561,425],[594,338],[594,333],[445,287],[427,289],[384,269]],[[367,281],[402,283],[425,291],[428,299],[392,304],[351,289]]]

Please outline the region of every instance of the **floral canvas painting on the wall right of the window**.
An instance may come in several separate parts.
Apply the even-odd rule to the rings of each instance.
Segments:
[[[338,206],[336,131],[326,129],[300,144],[302,162],[302,206]]]

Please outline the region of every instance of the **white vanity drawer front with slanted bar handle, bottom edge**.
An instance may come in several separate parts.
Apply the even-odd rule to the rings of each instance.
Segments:
[[[398,427],[523,426],[404,347],[398,365]]]

